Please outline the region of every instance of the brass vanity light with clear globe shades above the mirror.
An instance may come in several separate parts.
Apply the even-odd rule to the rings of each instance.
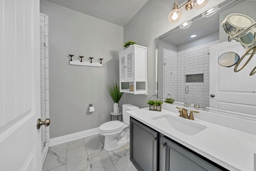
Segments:
[[[170,23],[177,23],[181,18],[181,8],[185,6],[187,11],[194,9],[201,9],[204,7],[209,0],[188,0],[188,2],[184,3],[184,5],[178,7],[178,3],[174,2],[173,10],[170,11],[168,16],[168,20]]]

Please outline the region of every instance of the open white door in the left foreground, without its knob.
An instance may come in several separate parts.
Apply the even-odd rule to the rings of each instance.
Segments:
[[[0,1],[0,170],[42,170],[39,0]]]

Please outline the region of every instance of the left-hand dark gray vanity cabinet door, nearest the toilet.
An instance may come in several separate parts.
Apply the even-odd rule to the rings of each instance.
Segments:
[[[137,170],[156,171],[158,133],[131,117],[130,160]]]

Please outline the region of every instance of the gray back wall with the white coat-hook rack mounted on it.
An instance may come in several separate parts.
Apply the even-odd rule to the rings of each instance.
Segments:
[[[49,15],[50,138],[99,127],[113,110],[105,83],[119,79],[123,27],[48,1],[40,1],[40,11]],[[104,58],[103,67],[71,66],[68,54]]]

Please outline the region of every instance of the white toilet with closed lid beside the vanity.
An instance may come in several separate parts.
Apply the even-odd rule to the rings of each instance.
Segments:
[[[99,133],[105,136],[105,150],[112,151],[129,142],[130,115],[127,111],[135,109],[139,109],[139,107],[123,104],[123,122],[115,120],[100,125]]]

